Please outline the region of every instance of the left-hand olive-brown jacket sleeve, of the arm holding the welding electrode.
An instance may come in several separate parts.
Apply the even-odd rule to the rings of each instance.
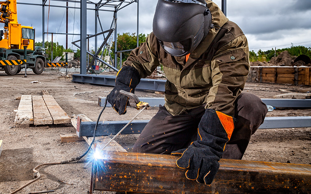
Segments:
[[[141,43],[140,47],[132,50],[128,59],[123,62],[123,65],[134,67],[141,78],[151,75],[156,67],[160,65],[158,52],[153,52],[157,51],[159,46],[153,33],[149,34],[146,38],[146,42]]]

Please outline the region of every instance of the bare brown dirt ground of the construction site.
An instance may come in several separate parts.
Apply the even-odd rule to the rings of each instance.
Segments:
[[[40,95],[41,90],[48,90],[58,104],[72,114],[85,114],[96,120],[101,107],[97,106],[99,96],[107,96],[111,87],[79,84],[65,79],[63,74],[44,72],[41,75],[28,72],[8,76],[0,71],[0,139],[3,150],[0,156],[0,194],[9,193],[33,179],[32,169],[41,163],[66,160],[84,153],[86,142],[61,143],[60,134],[75,133],[71,124],[60,125],[16,125],[15,112],[22,94]],[[29,83],[38,80],[41,83]],[[245,90],[261,98],[271,98],[282,94],[279,89],[311,89],[306,86],[281,84],[246,83]],[[164,97],[154,92],[135,92],[138,97]],[[284,93],[284,92],[283,92]],[[311,116],[311,109],[276,109],[271,116]],[[151,108],[137,120],[149,120],[158,108]],[[117,115],[112,108],[107,108],[101,120],[130,120],[137,110],[128,109],[126,115]],[[130,151],[137,135],[118,138],[117,141]],[[244,160],[290,162],[311,164],[311,128],[299,129],[260,129],[251,138],[243,157]],[[90,160],[83,158],[78,163],[44,166],[39,168],[42,178],[18,193],[55,190],[54,193],[88,193],[91,180]],[[63,183],[63,182],[67,183]],[[69,183],[69,184],[68,184]],[[94,192],[102,193],[102,192]],[[108,193],[108,192],[107,192]],[[114,192],[109,192],[114,193]]]

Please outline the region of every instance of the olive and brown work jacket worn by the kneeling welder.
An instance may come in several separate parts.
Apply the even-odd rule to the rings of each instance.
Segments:
[[[187,62],[184,56],[165,52],[151,33],[123,65],[134,67],[141,78],[163,65],[168,79],[164,106],[172,115],[187,114],[206,104],[205,108],[234,117],[234,101],[244,88],[250,67],[248,42],[239,26],[229,21],[214,2],[206,2],[212,24],[221,29],[210,29]]]

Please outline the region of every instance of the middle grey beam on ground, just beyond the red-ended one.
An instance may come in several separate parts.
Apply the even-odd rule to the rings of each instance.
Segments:
[[[98,106],[104,106],[106,97],[98,98]],[[164,98],[151,98],[140,97],[139,100],[148,102],[152,107],[158,107],[164,105]],[[277,108],[311,108],[311,99],[270,99],[262,98],[263,103]],[[111,104],[107,104],[107,107],[111,107]]]

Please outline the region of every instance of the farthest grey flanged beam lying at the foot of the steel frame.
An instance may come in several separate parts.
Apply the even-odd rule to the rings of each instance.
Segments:
[[[72,82],[90,83],[101,86],[115,86],[115,78],[116,76],[114,75],[73,74]],[[164,92],[165,82],[166,80],[162,79],[141,79],[136,89]]]

